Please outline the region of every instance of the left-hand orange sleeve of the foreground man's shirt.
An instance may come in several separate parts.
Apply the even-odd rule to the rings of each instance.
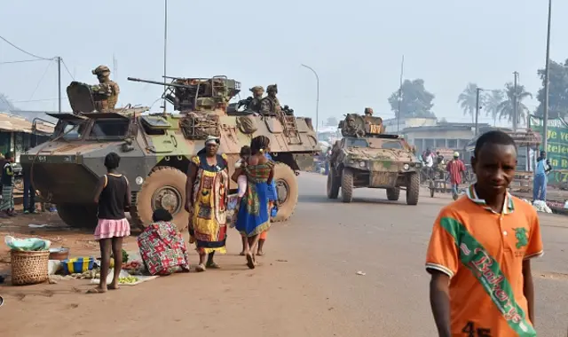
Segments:
[[[438,270],[452,278],[458,270],[460,256],[454,237],[442,226],[443,219],[451,217],[449,213],[442,209],[434,223],[426,253],[426,270]]]

